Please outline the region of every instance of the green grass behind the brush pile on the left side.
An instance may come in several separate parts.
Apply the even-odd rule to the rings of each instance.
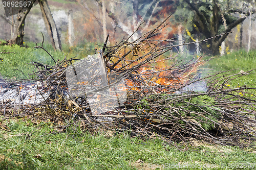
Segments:
[[[29,79],[29,74],[34,70],[33,65],[29,65],[31,62],[45,63],[49,65],[55,65],[52,58],[42,49],[33,48],[35,43],[26,42],[25,45],[29,46],[28,48],[19,47],[18,45],[8,46],[0,45],[0,52],[12,52],[10,54],[0,54],[0,58],[3,59],[0,62],[0,74],[5,79]],[[37,45],[41,45],[38,43]],[[93,43],[82,43],[76,47],[68,47],[66,44],[63,44],[63,51],[54,51],[52,46],[49,44],[44,44],[44,48],[52,55],[55,61],[63,60],[65,56],[67,58],[75,57],[84,58],[87,55],[94,54],[94,44]],[[15,53],[15,54],[13,54]],[[17,70],[18,69],[18,70]],[[23,75],[23,73],[24,76]]]

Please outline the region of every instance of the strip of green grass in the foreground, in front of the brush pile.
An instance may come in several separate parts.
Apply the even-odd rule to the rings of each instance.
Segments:
[[[180,152],[160,139],[141,140],[126,133],[106,135],[85,131],[73,138],[71,128],[53,133],[52,123],[41,122],[35,126],[23,118],[4,120],[0,126],[7,129],[0,132],[0,169],[138,169],[140,166],[135,162],[139,159],[144,162],[140,163],[141,167],[144,164],[148,168],[178,163],[219,167],[256,160],[255,147],[242,150],[204,144]],[[81,133],[79,128],[78,132]],[[255,169],[255,166],[243,169]]]

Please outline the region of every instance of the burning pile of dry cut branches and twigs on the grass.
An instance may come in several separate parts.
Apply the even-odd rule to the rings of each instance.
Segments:
[[[227,86],[252,70],[208,74],[201,68],[207,62],[203,56],[187,61],[172,55],[175,39],[154,39],[168,25],[164,22],[134,41],[130,38],[137,31],[114,46],[106,46],[106,38],[102,50],[85,59],[65,58],[54,66],[31,63],[41,101],[3,102],[2,108],[55,122],[73,117],[85,127],[119,127],[145,138],[160,135],[176,146],[193,140],[224,145],[255,140],[255,92],[248,90],[256,88]]]

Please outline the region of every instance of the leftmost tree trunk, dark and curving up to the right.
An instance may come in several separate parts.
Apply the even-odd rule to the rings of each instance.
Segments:
[[[16,27],[15,27],[15,44],[22,46],[23,45],[23,37],[24,37],[24,27],[25,27],[25,19],[30,11],[30,9],[33,7],[33,4],[36,0],[32,1],[32,5],[25,11],[18,13],[16,17]]]

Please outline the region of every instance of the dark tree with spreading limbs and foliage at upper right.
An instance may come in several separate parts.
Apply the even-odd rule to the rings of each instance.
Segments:
[[[187,35],[193,40],[228,33],[255,12],[255,10],[241,10],[240,6],[246,4],[246,1],[237,3],[237,1],[228,0],[182,0],[180,3],[175,13],[175,19],[178,22],[186,22]],[[202,44],[202,48],[204,51],[209,50],[212,54],[219,55],[220,46],[227,35],[208,40]]]

